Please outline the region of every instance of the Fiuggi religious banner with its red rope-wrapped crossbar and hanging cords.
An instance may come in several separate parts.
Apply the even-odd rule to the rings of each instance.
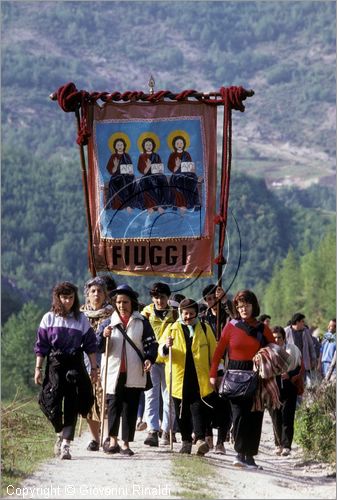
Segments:
[[[77,119],[93,275],[203,277],[217,265],[221,284],[232,110],[243,112],[252,95],[243,87],[89,93],[72,82],[50,95]],[[224,112],[217,194],[218,106]]]

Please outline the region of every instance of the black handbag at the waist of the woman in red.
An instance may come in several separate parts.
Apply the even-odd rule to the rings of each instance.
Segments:
[[[258,373],[253,370],[226,370],[222,377],[219,396],[237,401],[253,398],[258,386]]]

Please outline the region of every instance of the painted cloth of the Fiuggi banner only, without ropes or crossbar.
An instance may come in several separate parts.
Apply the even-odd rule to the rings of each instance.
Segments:
[[[106,103],[92,113],[88,188],[96,270],[210,275],[216,108]]]

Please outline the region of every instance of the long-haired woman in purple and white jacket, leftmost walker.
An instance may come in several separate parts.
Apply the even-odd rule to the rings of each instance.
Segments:
[[[93,404],[92,385],[85,369],[83,352],[91,364],[91,380],[97,379],[96,335],[80,312],[77,287],[67,281],[53,289],[51,311],[36,334],[36,384],[42,389],[39,404],[57,433],[54,453],[69,460],[77,415],[86,416]],[[47,359],[44,379],[42,369]]]

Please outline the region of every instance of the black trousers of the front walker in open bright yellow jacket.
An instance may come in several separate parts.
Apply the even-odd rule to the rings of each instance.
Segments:
[[[182,441],[191,443],[192,432],[194,432],[197,440],[205,440],[206,425],[208,422],[208,410],[205,403],[203,403],[200,397],[183,400],[178,398],[172,399]]]

